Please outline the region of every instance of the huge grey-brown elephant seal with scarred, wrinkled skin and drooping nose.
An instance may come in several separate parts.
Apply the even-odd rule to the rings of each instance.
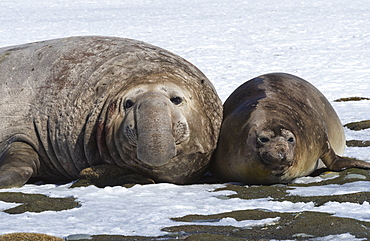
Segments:
[[[192,183],[222,122],[222,103],[200,70],[131,39],[1,48],[0,85],[0,187],[68,182],[100,164]]]

